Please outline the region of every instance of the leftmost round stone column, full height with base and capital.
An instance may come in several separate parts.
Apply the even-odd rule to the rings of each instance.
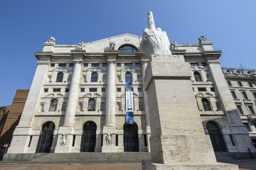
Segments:
[[[82,57],[85,55],[84,50],[72,50],[74,56],[73,76],[70,83],[70,91],[68,93],[68,103],[65,111],[64,124],[58,131],[58,142],[55,147],[55,153],[72,152],[75,111],[78,106],[78,94],[80,85],[80,75],[82,69]],[[67,135],[66,145],[60,146],[62,135]]]

